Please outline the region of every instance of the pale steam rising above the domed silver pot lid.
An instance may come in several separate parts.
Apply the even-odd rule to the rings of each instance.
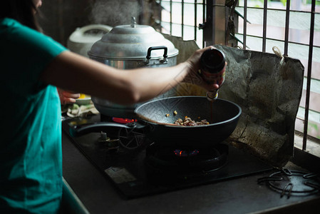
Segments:
[[[93,4],[91,19],[95,24],[118,26],[130,24],[131,17],[138,20],[141,12],[138,1],[98,0]]]

